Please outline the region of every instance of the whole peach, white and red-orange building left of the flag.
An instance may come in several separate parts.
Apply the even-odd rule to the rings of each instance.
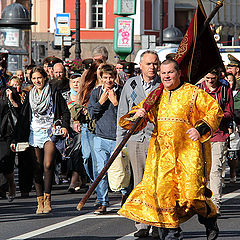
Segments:
[[[7,0],[6,0],[7,1]],[[13,1],[8,1],[11,4]],[[27,5],[27,2],[25,1]],[[160,32],[160,0],[137,0],[134,19],[134,52],[141,48],[142,35],[156,35]],[[29,7],[29,6],[28,6]],[[70,13],[71,30],[76,31],[76,0],[32,0],[31,19],[38,22],[32,27],[33,46],[41,46],[48,55],[61,57],[61,51],[54,48],[55,17],[57,13]],[[107,47],[110,61],[114,62],[116,55],[113,51],[114,40],[114,0],[81,0],[80,1],[80,39],[81,57],[91,57],[92,49],[97,45]],[[164,0],[164,28],[168,26],[168,0]],[[73,35],[73,39],[75,35]],[[44,47],[43,47],[44,46]],[[46,47],[45,47],[46,46]],[[40,47],[39,47],[40,48]],[[70,58],[75,57],[75,46],[70,49]],[[37,54],[38,55],[38,54]]]

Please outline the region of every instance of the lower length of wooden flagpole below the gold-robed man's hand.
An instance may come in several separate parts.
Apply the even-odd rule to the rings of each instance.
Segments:
[[[115,160],[115,158],[118,156],[118,154],[121,152],[122,148],[126,145],[128,139],[132,136],[132,134],[134,133],[134,131],[136,130],[136,128],[138,127],[138,125],[140,124],[142,120],[142,117],[138,117],[136,119],[136,121],[134,122],[134,124],[132,125],[131,129],[129,131],[127,131],[127,134],[125,135],[125,137],[123,138],[123,140],[121,141],[121,143],[118,145],[118,147],[115,149],[115,151],[113,152],[112,156],[110,157],[110,159],[108,160],[108,162],[106,163],[106,165],[104,166],[104,168],[102,169],[102,171],[99,173],[98,177],[96,178],[96,180],[93,182],[93,184],[91,185],[91,187],[88,189],[87,193],[85,194],[85,196],[82,198],[82,200],[79,202],[79,204],[77,205],[77,210],[80,211],[84,204],[86,203],[86,201],[88,200],[88,198],[91,196],[91,194],[93,193],[93,191],[95,190],[95,188],[97,187],[97,185],[99,184],[99,182],[102,180],[102,178],[105,176],[105,174],[107,173],[107,170],[109,169],[109,167],[111,166],[111,164],[113,163],[113,161]]]

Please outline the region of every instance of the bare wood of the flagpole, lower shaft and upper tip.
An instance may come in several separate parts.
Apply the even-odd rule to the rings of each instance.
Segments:
[[[223,1],[218,1],[217,2],[217,6],[213,9],[213,11],[211,12],[211,14],[209,15],[209,17],[205,20],[204,23],[204,28],[206,28],[207,24],[209,24],[209,22],[212,20],[212,18],[214,17],[214,15],[217,13],[217,11],[220,9],[220,7],[222,7],[223,5]],[[198,2],[201,3],[200,0],[198,0]],[[201,3],[202,4],[202,3]],[[203,31],[201,32],[203,33]],[[106,163],[106,165],[104,166],[104,168],[102,169],[102,171],[100,172],[100,174],[98,175],[98,177],[96,178],[96,180],[93,182],[93,184],[91,185],[91,187],[89,188],[89,190],[87,191],[87,193],[85,194],[85,196],[82,198],[82,200],[78,203],[77,205],[77,210],[80,211],[84,204],[86,203],[86,201],[88,200],[88,198],[91,196],[91,194],[93,193],[93,191],[95,190],[95,188],[97,187],[97,185],[99,184],[99,182],[102,180],[102,178],[104,177],[104,175],[107,173],[107,170],[109,169],[109,167],[111,166],[111,164],[113,163],[113,161],[115,160],[115,158],[118,156],[118,154],[121,152],[122,148],[126,145],[128,139],[132,136],[132,134],[134,133],[134,131],[137,129],[138,125],[140,124],[142,118],[139,117],[136,119],[136,121],[134,122],[133,126],[131,127],[131,129],[127,132],[127,134],[125,135],[124,139],[121,141],[121,143],[118,145],[118,147],[116,148],[116,150],[113,152],[112,156],[110,157],[110,159],[108,160],[108,162]]]

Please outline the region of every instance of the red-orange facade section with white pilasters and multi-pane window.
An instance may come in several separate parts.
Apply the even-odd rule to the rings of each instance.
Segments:
[[[50,28],[54,33],[56,13],[63,12],[62,0],[50,1]],[[137,0],[136,15],[134,19],[134,53],[141,48],[142,35],[156,35],[160,32],[160,0]],[[164,0],[165,12],[168,12],[168,0]],[[76,31],[75,0],[65,0],[65,12],[71,15],[71,29]],[[81,0],[80,1],[80,39],[82,58],[90,57],[91,51],[96,45],[104,45],[110,53],[110,61],[114,62],[113,39],[114,39],[114,15],[113,0]],[[165,14],[164,27],[167,27],[167,14]],[[75,36],[73,36],[75,37]],[[71,48],[74,55],[74,46]]]

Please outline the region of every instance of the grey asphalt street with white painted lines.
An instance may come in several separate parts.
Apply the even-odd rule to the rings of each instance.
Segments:
[[[229,180],[227,179],[227,182]],[[219,239],[240,239],[240,182],[227,184],[224,189],[222,216],[219,218]],[[19,194],[18,194],[19,195]],[[36,215],[35,192],[27,199],[17,198],[12,203],[0,200],[0,239],[51,240],[133,240],[134,223],[117,215],[120,194],[111,193],[108,214],[96,216],[92,212],[95,196],[81,212],[76,206],[83,194],[67,193],[67,185],[55,185],[52,196],[53,212]],[[184,239],[206,239],[205,230],[194,217],[182,225]],[[142,238],[143,239],[143,238]],[[152,239],[151,237],[145,239]],[[144,239],[143,239],[144,240]]]

